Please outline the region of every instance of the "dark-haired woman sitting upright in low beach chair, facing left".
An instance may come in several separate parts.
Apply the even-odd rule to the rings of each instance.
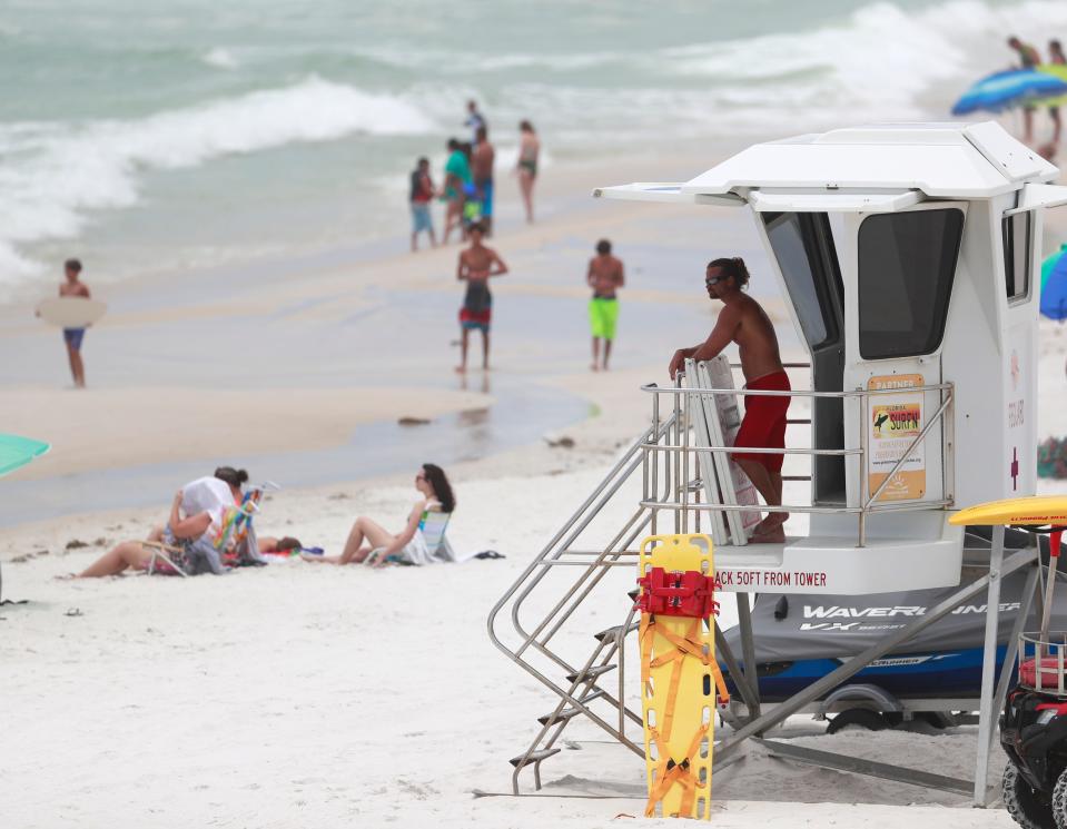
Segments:
[[[398,535],[360,516],[348,533],[345,551],[340,555],[305,554],[300,557],[327,564],[360,564],[371,559],[373,552],[375,555],[368,563],[376,568],[391,561],[428,564],[444,543],[445,526],[456,507],[456,500],[444,470],[432,463],[423,464],[415,475],[415,488],[423,497],[415,502],[407,526]]]

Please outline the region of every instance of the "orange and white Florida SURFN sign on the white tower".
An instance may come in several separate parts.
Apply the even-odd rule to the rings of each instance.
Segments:
[[[871,377],[870,391],[915,388],[921,374],[891,374]],[[911,442],[922,431],[922,393],[879,394],[870,398],[870,434],[867,455],[868,492],[873,493],[892,471]],[[923,442],[925,443],[925,442]],[[919,443],[882,490],[878,501],[910,501],[926,494],[926,451]]]

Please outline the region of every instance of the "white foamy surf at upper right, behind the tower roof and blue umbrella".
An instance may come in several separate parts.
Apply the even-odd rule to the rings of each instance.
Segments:
[[[659,57],[679,78],[707,78],[713,100],[753,122],[761,110],[778,119],[788,114],[801,126],[928,118],[935,100],[947,116],[948,98],[966,82],[1016,62],[1006,45],[990,51],[991,43],[1018,32],[1044,53],[1046,43],[1034,34],[1063,29],[1061,2],[951,0],[918,12],[876,2],[814,30],[698,43]]]

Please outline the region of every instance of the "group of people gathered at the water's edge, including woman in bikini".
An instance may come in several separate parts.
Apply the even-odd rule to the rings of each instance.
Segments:
[[[445,203],[445,224],[442,244],[447,245],[453,231],[466,239],[471,226],[478,223],[487,235],[493,233],[496,196],[496,148],[490,140],[490,127],[477,103],[467,101],[471,140],[449,138],[441,187],[434,184],[428,158],[419,158],[411,174],[408,203],[412,211],[412,251],[418,250],[418,237],[426,234],[432,247],[437,246],[434,230],[434,199]],[[533,223],[533,190],[537,178],[541,140],[528,120],[518,125],[518,160],[515,175],[526,210],[526,221]]]

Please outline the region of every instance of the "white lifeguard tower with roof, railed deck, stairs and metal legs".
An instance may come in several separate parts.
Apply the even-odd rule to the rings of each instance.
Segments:
[[[787,366],[810,376],[810,385],[793,378],[787,438],[787,461],[807,466],[787,492],[807,497],[781,505],[808,514],[808,533],[784,544],[748,544],[735,520],[751,506],[739,502],[724,474],[732,446],[709,424],[715,425],[720,399],[759,392],[735,391],[729,373],[728,382],[709,383],[710,365],[690,366],[674,387],[644,386],[649,428],[490,614],[494,643],[556,703],[512,760],[515,793],[530,767],[540,788],[542,763],[560,751],[575,719],[587,718],[643,757],[640,738],[628,733],[640,729],[641,715],[635,690],[628,690],[635,624],[621,585],[633,584],[644,535],[714,529],[718,581],[738,593],[742,633],[742,652],[734,654],[717,631],[718,652],[745,705],[733,732],[715,743],[715,763],[960,603],[985,601],[974,781],[879,763],[860,769],[837,754],[764,744],[804,762],[972,791],[977,805],[987,801],[995,717],[1011,673],[1001,671],[995,685],[999,580],[1038,555],[1030,546],[1005,557],[1002,532],[970,549],[965,527],[949,517],[970,504],[1035,492],[1037,274],[1044,208],[1067,204],[1067,187],[1048,184],[1057,172],[994,122],[890,125],[759,144],[681,184],[594,191],[752,213],[810,357]],[[619,517],[623,506],[631,507],[626,519]],[[984,575],[806,691],[761,710],[749,593],[945,588],[961,584],[965,565]],[[1009,643],[1028,615],[1039,572],[1029,568]],[[619,614],[590,642],[596,621],[587,599],[604,591],[614,591]],[[1008,647],[1006,665],[1014,660]]]

